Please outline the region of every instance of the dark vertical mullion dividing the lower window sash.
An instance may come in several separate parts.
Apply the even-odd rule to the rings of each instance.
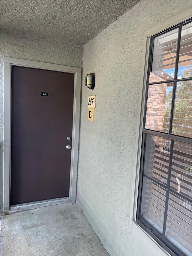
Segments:
[[[174,140],[171,140],[170,161],[169,161],[169,170],[168,170],[168,176],[167,176],[167,193],[166,193],[166,199],[165,199],[165,212],[164,212],[164,223],[163,223],[163,233],[162,233],[163,236],[165,236],[166,223],[167,223],[169,189],[170,189],[170,181],[171,181],[171,167],[172,167],[172,160],[173,160],[173,146],[174,146]]]

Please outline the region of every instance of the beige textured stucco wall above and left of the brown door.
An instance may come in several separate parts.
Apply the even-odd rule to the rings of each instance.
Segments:
[[[3,202],[3,57],[82,67],[83,47],[0,30],[0,211]]]

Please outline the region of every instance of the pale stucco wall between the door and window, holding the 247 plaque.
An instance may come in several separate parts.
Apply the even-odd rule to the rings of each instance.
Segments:
[[[77,202],[111,256],[165,255],[133,223],[144,32],[191,1],[142,1],[84,46]],[[84,78],[95,73],[93,91]],[[94,122],[87,101],[96,95]]]

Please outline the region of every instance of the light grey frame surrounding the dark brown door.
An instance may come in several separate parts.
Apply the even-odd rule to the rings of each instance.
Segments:
[[[4,57],[4,169],[3,169],[3,210],[13,212],[26,209],[34,209],[59,203],[76,201],[77,163],[79,146],[79,117],[80,117],[80,93],[81,93],[81,68],[50,64],[44,62],[29,61]],[[73,94],[73,130],[72,150],[70,165],[70,190],[69,197],[42,200],[31,203],[22,203],[10,206],[10,177],[11,177],[11,68],[20,66],[26,68],[39,68],[51,71],[59,71],[74,74]]]

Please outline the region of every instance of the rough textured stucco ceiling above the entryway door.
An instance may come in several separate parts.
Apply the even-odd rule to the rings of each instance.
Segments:
[[[85,44],[138,2],[0,0],[0,30]]]

